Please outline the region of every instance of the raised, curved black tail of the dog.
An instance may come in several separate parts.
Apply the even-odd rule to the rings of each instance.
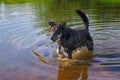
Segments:
[[[88,20],[87,15],[83,13],[81,10],[76,10],[76,12],[82,18],[84,25],[85,25],[85,29],[89,31],[89,20]]]

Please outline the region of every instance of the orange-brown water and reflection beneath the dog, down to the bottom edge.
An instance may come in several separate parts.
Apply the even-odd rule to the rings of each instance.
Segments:
[[[73,60],[64,57],[59,58],[57,80],[87,80],[89,62],[92,61],[91,51],[81,50],[73,54]]]

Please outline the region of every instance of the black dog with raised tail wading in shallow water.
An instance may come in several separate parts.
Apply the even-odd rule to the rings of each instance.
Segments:
[[[72,52],[77,48],[86,47],[88,50],[93,51],[93,39],[89,33],[88,17],[81,10],[76,10],[76,13],[83,20],[84,29],[75,30],[68,28],[65,22],[60,24],[52,21],[48,22],[50,25],[51,40],[57,41],[59,52],[63,49],[68,54],[68,59],[72,59]]]

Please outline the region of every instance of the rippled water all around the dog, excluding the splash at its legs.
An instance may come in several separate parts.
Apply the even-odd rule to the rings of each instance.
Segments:
[[[40,62],[32,50],[54,61],[48,21],[80,29],[76,9],[89,16],[95,61],[68,68]],[[119,0],[1,0],[0,80],[119,80],[119,9]]]

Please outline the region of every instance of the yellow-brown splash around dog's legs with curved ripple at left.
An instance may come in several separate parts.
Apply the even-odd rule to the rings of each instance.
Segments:
[[[32,51],[33,54],[39,59],[40,62],[43,62],[45,64],[49,65],[57,65],[53,62],[48,61],[45,59],[43,56],[41,56],[39,53]],[[92,51],[88,51],[87,49],[82,49],[80,51],[74,51],[73,52],[73,59],[68,59],[67,55],[66,56],[57,56],[56,60],[58,60],[59,65],[61,66],[73,66],[73,65],[84,65],[88,64],[93,60],[93,53]],[[55,58],[55,57],[54,57]]]

